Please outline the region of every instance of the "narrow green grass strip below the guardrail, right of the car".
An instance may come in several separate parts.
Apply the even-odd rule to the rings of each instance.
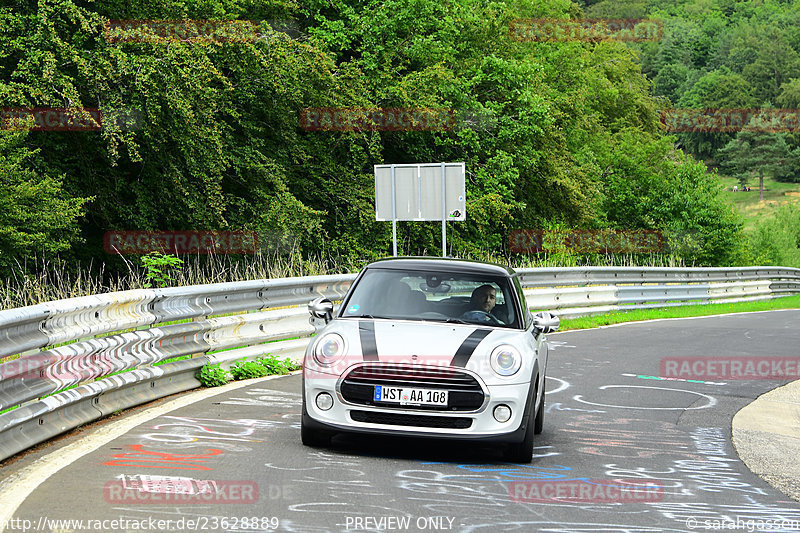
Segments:
[[[559,331],[590,329],[599,326],[608,326],[610,324],[654,320],[657,318],[685,318],[692,316],[722,315],[726,313],[771,311],[774,309],[800,309],[800,294],[754,302],[681,305],[677,307],[634,309],[631,311],[615,311],[603,315],[565,318],[561,321]]]

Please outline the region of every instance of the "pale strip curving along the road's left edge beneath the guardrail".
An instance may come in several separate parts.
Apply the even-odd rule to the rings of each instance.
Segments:
[[[289,375],[294,375],[293,372]],[[108,444],[112,440],[122,436],[128,431],[132,430],[140,424],[144,424],[158,416],[161,416],[170,411],[186,407],[195,402],[217,396],[232,390],[236,390],[248,385],[260,383],[270,379],[286,377],[281,376],[267,376],[260,379],[248,379],[239,382],[229,383],[222,387],[214,387],[211,389],[203,389],[199,391],[190,392],[180,398],[171,400],[163,405],[150,407],[141,413],[135,413],[120,420],[114,420],[104,424],[102,427],[97,428],[92,433],[81,438],[78,442],[68,444],[63,448],[54,450],[52,453],[37,459],[33,464],[26,466],[19,472],[10,475],[2,482],[0,482],[0,501],[3,502],[0,507],[0,533],[5,531],[5,526],[10,523],[10,520],[17,512],[20,505],[41,485],[47,478],[65,468],[86,454],[89,454],[101,446]]]

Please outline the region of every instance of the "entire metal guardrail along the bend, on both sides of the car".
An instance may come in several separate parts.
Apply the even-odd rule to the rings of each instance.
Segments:
[[[800,293],[800,269],[780,267],[519,272],[529,307],[561,316]],[[195,375],[208,362],[301,357],[314,331],[305,304],[318,295],[341,299],[354,279],[142,289],[0,311],[0,358],[19,354],[0,364],[0,411],[19,406],[0,414],[0,460],[119,409],[199,387]],[[193,357],[154,366],[182,355]]]

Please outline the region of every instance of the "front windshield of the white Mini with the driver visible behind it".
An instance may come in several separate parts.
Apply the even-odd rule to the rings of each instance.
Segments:
[[[353,289],[340,316],[519,328],[512,290],[505,277],[371,269]]]

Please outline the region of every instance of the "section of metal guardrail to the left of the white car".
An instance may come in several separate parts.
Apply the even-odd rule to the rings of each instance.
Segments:
[[[19,406],[0,414],[0,460],[118,409],[199,387],[195,375],[208,362],[302,354],[314,329],[307,311],[292,306],[341,299],[354,279],[142,289],[0,311],[0,357],[19,354],[0,364],[0,411]],[[182,355],[193,358],[154,366]]]

